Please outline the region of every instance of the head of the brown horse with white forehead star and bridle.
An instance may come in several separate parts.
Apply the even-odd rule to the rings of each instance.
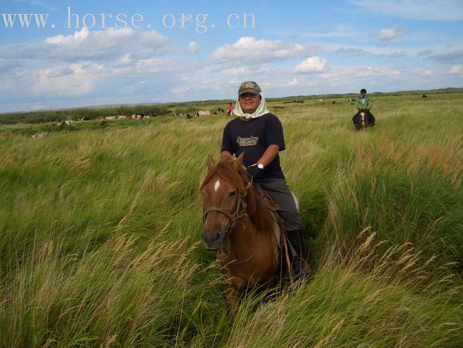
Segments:
[[[219,161],[217,165],[209,155],[206,163],[209,171],[201,186],[204,195],[201,238],[206,249],[219,251],[236,219],[244,214],[246,173],[241,168],[243,155],[234,161]]]

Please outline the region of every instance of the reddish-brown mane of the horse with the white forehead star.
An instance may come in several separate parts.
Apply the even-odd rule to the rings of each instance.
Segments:
[[[263,200],[254,184],[252,184],[247,193],[245,189],[250,184],[250,179],[243,166],[239,166],[238,170],[234,168],[233,161],[222,160],[212,168],[204,178],[201,188],[204,187],[212,177],[217,175],[220,179],[225,180],[229,184],[235,186],[244,197],[247,204],[246,212],[250,220],[262,233],[272,233],[275,228],[275,221],[270,215],[272,211],[276,211],[276,205],[273,202]]]

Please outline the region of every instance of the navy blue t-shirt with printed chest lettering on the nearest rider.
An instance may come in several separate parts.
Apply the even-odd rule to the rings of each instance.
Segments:
[[[243,164],[250,166],[259,161],[270,145],[278,145],[280,151],[285,149],[282,122],[273,113],[266,113],[250,120],[237,117],[228,122],[223,130],[220,151],[227,150],[236,157],[244,151]],[[284,179],[279,155],[263,168],[256,181],[270,177]]]

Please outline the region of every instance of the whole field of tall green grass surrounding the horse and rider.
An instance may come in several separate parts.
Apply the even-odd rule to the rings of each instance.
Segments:
[[[313,274],[236,317],[197,242],[229,118],[2,127],[0,345],[457,346],[463,95],[373,105],[377,127],[355,132],[346,101],[268,103]]]

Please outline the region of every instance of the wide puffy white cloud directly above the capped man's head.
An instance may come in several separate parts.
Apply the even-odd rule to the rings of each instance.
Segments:
[[[286,43],[282,40],[256,40],[244,36],[232,45],[222,45],[212,54],[213,61],[245,61],[247,63],[262,63],[294,58],[314,50],[313,47],[299,43]]]

